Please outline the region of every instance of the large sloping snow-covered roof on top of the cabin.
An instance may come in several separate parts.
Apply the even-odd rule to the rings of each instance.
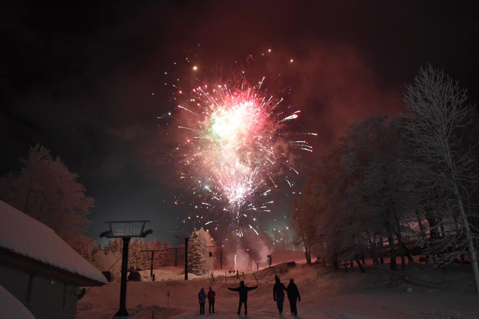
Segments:
[[[106,284],[106,278],[51,228],[0,200],[0,248]]]

